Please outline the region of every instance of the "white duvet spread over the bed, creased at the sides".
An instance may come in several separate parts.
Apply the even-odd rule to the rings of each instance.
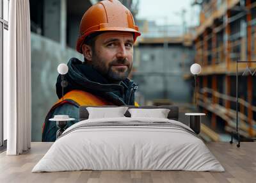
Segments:
[[[113,122],[112,125],[104,126],[109,122]],[[161,122],[167,125],[161,125]],[[141,126],[142,123],[145,125]],[[93,126],[94,124],[97,125]],[[204,142],[191,131],[188,126],[180,122],[163,118],[124,117],[84,120],[63,132],[32,172],[225,171]]]

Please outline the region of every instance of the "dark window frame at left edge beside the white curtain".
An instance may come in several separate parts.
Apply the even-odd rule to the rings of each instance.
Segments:
[[[4,60],[4,29],[8,31],[8,21],[4,20],[4,1],[8,1],[8,8],[10,0],[0,0],[0,152],[6,149],[6,140],[4,140],[4,121],[3,121],[3,60]],[[10,8],[9,8],[10,10]],[[7,10],[8,11],[8,10]],[[8,11],[9,12],[9,11]],[[8,17],[9,19],[9,17]]]

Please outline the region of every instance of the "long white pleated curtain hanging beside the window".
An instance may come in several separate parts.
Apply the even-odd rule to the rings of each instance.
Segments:
[[[31,49],[29,0],[11,0],[8,60],[4,62],[4,120],[8,155],[31,145]]]

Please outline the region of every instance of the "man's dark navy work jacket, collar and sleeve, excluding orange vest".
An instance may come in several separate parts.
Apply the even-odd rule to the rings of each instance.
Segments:
[[[134,92],[138,88],[138,84],[130,79],[127,78],[120,84],[111,84],[91,65],[86,65],[77,58],[70,59],[67,65],[68,73],[64,77],[67,86],[64,88],[64,95],[72,90],[83,90],[116,106],[134,106]],[[57,78],[56,93],[60,99],[62,97],[61,75]],[[67,103],[50,110],[45,118],[42,141],[56,140],[56,131],[58,130],[56,122],[49,121],[49,118],[53,118],[54,115],[69,115],[70,118],[75,118],[75,121],[68,122],[68,127],[70,127],[70,125],[79,122],[79,106]]]

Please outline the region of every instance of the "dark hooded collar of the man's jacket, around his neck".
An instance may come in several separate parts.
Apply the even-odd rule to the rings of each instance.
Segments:
[[[118,106],[134,105],[134,92],[138,88],[138,84],[134,81],[127,78],[120,84],[108,83],[97,70],[77,58],[71,58],[67,65],[68,73],[65,75],[65,81],[68,84],[64,88],[64,95],[71,90],[84,90],[104,97]],[[62,97],[61,75],[57,79],[56,93],[60,99]]]

